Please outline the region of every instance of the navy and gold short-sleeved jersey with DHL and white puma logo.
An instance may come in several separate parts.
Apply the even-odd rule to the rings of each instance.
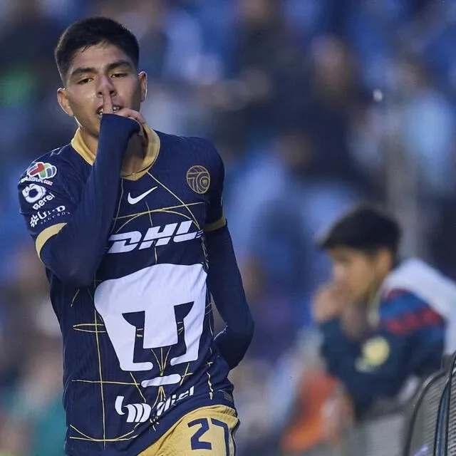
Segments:
[[[63,334],[69,455],[135,455],[190,410],[234,407],[207,288],[205,232],[225,224],[222,160],[199,138],[157,133],[155,143],[152,167],[119,180],[90,286],[46,269]],[[76,213],[92,163],[76,133],[21,177],[38,254]]]

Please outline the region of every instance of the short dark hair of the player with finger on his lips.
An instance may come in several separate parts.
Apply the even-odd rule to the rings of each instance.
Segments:
[[[113,19],[90,17],[73,22],[58,40],[54,57],[63,83],[76,52],[101,43],[122,49],[138,68],[140,47],[135,35]]]

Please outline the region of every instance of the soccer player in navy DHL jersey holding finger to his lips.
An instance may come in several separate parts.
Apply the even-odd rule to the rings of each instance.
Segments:
[[[253,322],[210,142],[151,130],[135,36],[89,18],[55,52],[71,144],[19,182],[63,334],[68,455],[233,455],[227,379]],[[213,335],[212,297],[227,326]]]

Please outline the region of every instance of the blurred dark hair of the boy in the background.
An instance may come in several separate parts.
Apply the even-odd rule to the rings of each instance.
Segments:
[[[394,217],[361,204],[336,220],[328,232],[317,239],[317,245],[324,250],[351,247],[366,253],[386,248],[396,257],[401,236],[402,230]]]

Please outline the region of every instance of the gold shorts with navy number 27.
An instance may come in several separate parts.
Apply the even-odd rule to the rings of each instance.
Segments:
[[[213,423],[216,423],[214,425]],[[207,427],[202,427],[204,423]],[[225,435],[226,426],[228,435]],[[156,455],[179,455],[198,456],[209,454],[208,449],[192,449],[192,441],[207,442],[210,445],[210,454],[214,456],[234,456],[236,445],[234,444],[234,432],[237,430],[239,418],[234,408],[226,405],[209,405],[197,408],[184,415],[175,425],[163,434],[152,446],[140,452],[139,456]],[[195,434],[199,432],[199,438]],[[228,447],[227,447],[228,446]],[[199,450],[199,451],[198,451]]]

